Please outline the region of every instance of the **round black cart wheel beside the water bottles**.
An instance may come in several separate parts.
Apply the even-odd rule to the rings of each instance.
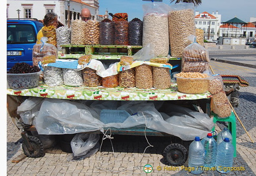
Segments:
[[[181,166],[187,161],[187,149],[179,143],[168,145],[163,152],[164,160],[167,165]]]

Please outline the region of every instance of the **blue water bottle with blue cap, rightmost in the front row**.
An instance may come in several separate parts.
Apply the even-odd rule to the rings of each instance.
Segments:
[[[231,171],[233,165],[234,148],[228,137],[225,137],[223,142],[217,146],[217,156],[215,166],[220,173]]]

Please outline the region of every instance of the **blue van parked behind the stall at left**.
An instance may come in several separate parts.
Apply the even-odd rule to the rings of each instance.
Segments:
[[[7,19],[7,71],[17,62],[33,65],[33,46],[41,27],[36,18]]]

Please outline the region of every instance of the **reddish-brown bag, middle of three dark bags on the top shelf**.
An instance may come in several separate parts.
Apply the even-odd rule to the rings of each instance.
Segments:
[[[129,22],[128,21],[114,22],[114,44],[129,45]]]

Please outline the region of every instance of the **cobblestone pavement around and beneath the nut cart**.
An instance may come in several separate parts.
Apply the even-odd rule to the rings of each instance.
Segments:
[[[244,58],[245,59],[245,58]],[[240,104],[235,108],[242,124],[254,142],[256,141],[256,69],[211,61],[215,73],[236,74],[246,78],[250,86],[239,89]],[[229,68],[230,67],[230,68]],[[235,71],[234,71],[235,69]],[[217,123],[216,131],[226,126]],[[146,175],[143,167],[151,164],[153,171],[148,175],[193,175],[181,167],[165,165],[162,150],[172,141],[170,137],[113,136],[103,141],[101,152],[81,161],[67,161],[70,153],[63,152],[59,146],[46,150],[41,158],[25,158],[18,163],[11,161],[23,153],[20,131],[7,116],[7,175]],[[204,171],[201,175],[256,175],[256,147],[251,142],[241,123],[236,120],[236,152],[233,167],[244,167],[244,171],[232,171],[220,174],[217,171]],[[102,137],[102,136],[101,136]],[[146,151],[145,151],[146,149]],[[114,150],[114,153],[112,152]],[[143,152],[145,151],[144,155]],[[156,167],[160,166],[158,171]],[[184,164],[187,167],[187,162]]]

